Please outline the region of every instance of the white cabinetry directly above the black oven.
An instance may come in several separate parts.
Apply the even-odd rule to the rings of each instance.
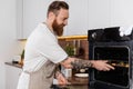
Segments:
[[[89,29],[132,26],[133,0],[89,0]]]

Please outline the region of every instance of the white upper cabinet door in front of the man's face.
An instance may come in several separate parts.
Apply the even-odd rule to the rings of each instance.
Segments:
[[[66,2],[70,6],[70,17],[64,36],[86,34],[89,28],[89,0],[66,0]]]

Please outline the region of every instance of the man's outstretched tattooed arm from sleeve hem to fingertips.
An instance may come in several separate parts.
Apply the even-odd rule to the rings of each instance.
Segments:
[[[69,57],[68,59],[63,60],[61,65],[66,69],[95,68],[96,70],[102,71],[109,71],[111,69],[114,70],[114,67],[106,62],[106,60],[83,60],[79,58]]]

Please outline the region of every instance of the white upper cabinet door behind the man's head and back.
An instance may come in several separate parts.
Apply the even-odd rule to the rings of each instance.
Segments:
[[[23,38],[28,38],[47,17],[50,0],[23,0]]]

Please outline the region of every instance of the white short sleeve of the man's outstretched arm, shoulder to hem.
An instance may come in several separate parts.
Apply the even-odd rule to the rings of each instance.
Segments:
[[[68,57],[66,52],[60,47],[55,36],[49,29],[44,30],[35,38],[38,52],[54,63],[61,62]]]

